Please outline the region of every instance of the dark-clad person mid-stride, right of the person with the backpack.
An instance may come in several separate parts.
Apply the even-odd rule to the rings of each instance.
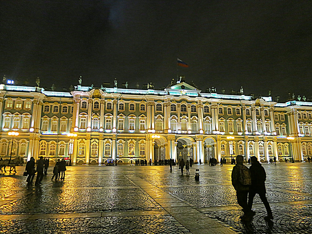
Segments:
[[[266,181],[266,171],[258,162],[257,157],[250,157],[251,166],[249,168],[251,174],[251,186],[249,188],[249,196],[248,196],[248,206],[252,207],[253,199],[256,193],[259,194],[261,201],[266,207],[266,212],[268,215],[265,219],[273,219],[272,210],[268,200],[266,199],[266,186],[264,182]]]

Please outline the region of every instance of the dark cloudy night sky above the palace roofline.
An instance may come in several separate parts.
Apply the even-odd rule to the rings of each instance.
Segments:
[[[0,1],[0,76],[57,90],[177,77],[206,91],[312,95],[311,1]]]

